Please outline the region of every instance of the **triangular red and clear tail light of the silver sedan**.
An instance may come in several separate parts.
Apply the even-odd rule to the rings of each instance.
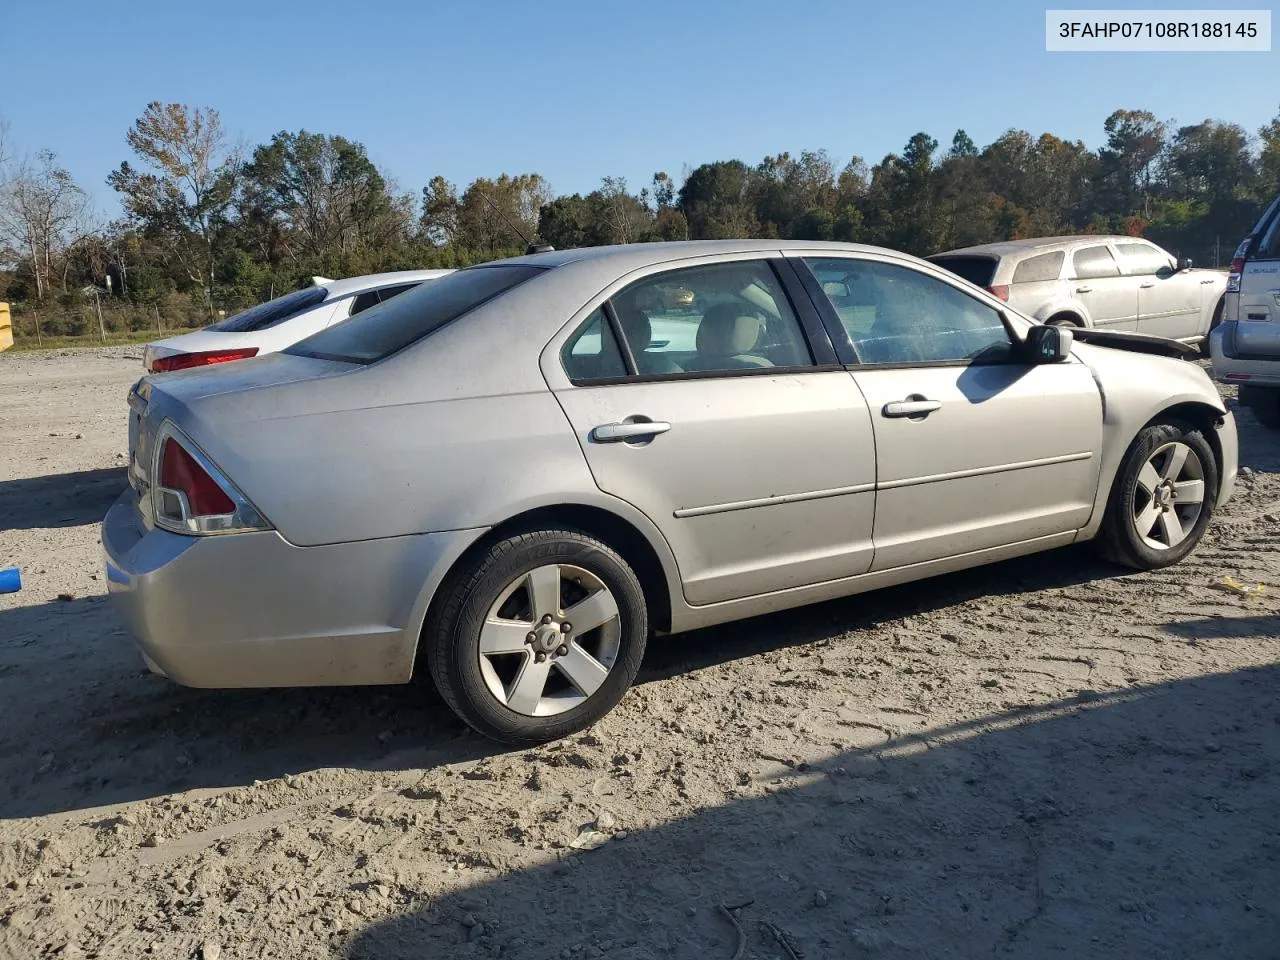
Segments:
[[[152,511],[156,526],[175,534],[236,534],[270,525],[236,485],[177,426],[156,438]]]

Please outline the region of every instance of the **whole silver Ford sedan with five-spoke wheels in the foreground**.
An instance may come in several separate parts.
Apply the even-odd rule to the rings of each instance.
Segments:
[[[428,672],[488,736],[559,737],[652,631],[1079,540],[1183,558],[1231,492],[1234,421],[1171,356],[1193,351],[1098,335],[1147,352],[854,244],[468,268],[140,381],[109,589],[182,684]]]

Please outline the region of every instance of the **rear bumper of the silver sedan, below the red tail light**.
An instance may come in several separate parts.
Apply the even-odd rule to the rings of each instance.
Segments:
[[[102,550],[147,666],[179,684],[399,684],[428,600],[481,532],[325,547],[275,531],[182,536],[141,529],[125,490],[102,521]]]

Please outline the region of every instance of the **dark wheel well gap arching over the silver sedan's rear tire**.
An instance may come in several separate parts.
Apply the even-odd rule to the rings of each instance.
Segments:
[[[573,530],[581,530],[584,534],[590,534],[617,550],[640,580],[640,588],[644,590],[645,604],[649,608],[650,628],[657,631],[671,630],[671,591],[667,589],[667,575],[662,568],[662,561],[658,559],[658,554],[654,552],[653,547],[649,545],[644,534],[636,530],[627,521],[622,520],[622,517],[609,513],[607,509],[600,509],[599,507],[564,503],[554,507],[540,507],[538,509],[526,511],[525,513],[518,513],[509,520],[504,520],[502,524],[498,524],[495,527],[489,530],[489,532],[471,544],[471,547],[468,547],[462,556],[454,561],[449,572],[440,581],[442,588],[445,582],[448,582],[448,579],[453,576],[454,571],[461,570],[465,564],[470,563],[477,553],[486,550],[498,540],[504,540],[517,532],[545,527],[572,527]],[[426,625],[431,622],[431,613],[435,604],[439,603],[443,593],[443,589],[438,588],[435,596],[431,598],[426,617],[422,621],[424,630],[426,628]],[[421,643],[419,643],[419,649],[421,649]],[[415,666],[415,673],[416,672],[417,667]]]

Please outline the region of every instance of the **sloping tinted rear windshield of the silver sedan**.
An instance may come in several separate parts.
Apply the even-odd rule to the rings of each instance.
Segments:
[[[285,353],[372,364],[541,273],[540,266],[472,266],[307,337]]]

